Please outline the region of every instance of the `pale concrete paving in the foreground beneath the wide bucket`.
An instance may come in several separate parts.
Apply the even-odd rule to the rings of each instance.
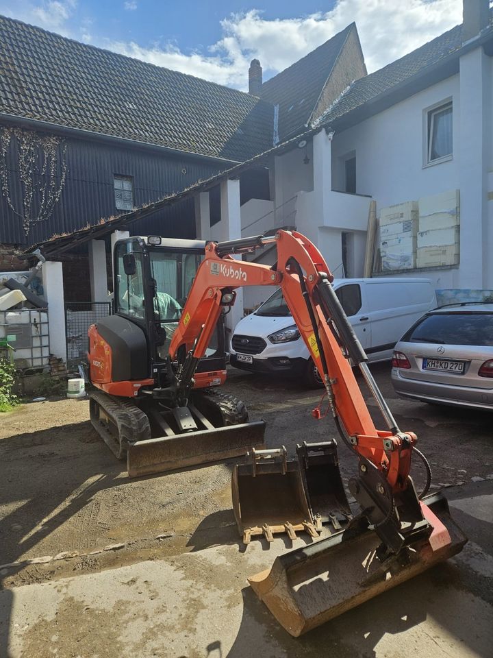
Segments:
[[[294,639],[246,586],[286,550],[253,541],[0,592],[3,658],[489,657],[493,483],[446,489],[455,559]],[[298,541],[302,541],[299,539]]]

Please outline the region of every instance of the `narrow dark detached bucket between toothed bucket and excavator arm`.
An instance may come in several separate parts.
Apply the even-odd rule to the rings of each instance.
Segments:
[[[303,441],[296,446],[296,454],[312,516],[331,524],[334,531],[342,530],[351,508],[342,485],[336,441]]]

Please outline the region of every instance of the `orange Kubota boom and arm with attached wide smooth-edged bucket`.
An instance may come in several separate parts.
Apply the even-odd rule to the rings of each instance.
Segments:
[[[273,267],[231,256],[269,243],[277,245]],[[357,459],[357,477],[349,489],[361,512],[343,531],[287,552],[270,570],[249,578],[257,595],[295,636],[448,559],[467,541],[448,514],[446,499],[439,493],[426,495],[429,464],[416,448],[414,432],[399,428],[383,399],[332,279],[318,249],[297,232],[207,243],[169,348],[170,362],[177,365],[168,387],[173,395],[178,393],[177,399],[187,400],[194,372],[223,308],[234,303],[235,289],[275,285],[323,378],[329,417]],[[385,430],[375,428],[352,365],[362,372]],[[173,395],[168,395],[170,401]],[[131,443],[129,449],[138,446]],[[413,456],[427,471],[419,495],[409,476]],[[272,508],[273,500],[266,504]]]

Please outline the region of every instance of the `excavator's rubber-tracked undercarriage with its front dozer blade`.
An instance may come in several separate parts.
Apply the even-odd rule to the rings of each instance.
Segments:
[[[193,391],[186,407],[153,398],[90,393],[92,426],[131,477],[210,464],[264,447],[265,424],[249,423],[241,400],[215,389]]]

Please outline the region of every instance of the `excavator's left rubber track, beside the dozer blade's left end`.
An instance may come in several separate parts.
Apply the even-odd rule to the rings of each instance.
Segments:
[[[90,398],[103,409],[118,428],[119,445],[116,439],[99,424],[97,417],[91,413],[91,423],[106,445],[118,459],[125,459],[127,443],[144,441],[151,438],[151,427],[145,413],[132,400],[115,398],[103,391],[91,391]]]

